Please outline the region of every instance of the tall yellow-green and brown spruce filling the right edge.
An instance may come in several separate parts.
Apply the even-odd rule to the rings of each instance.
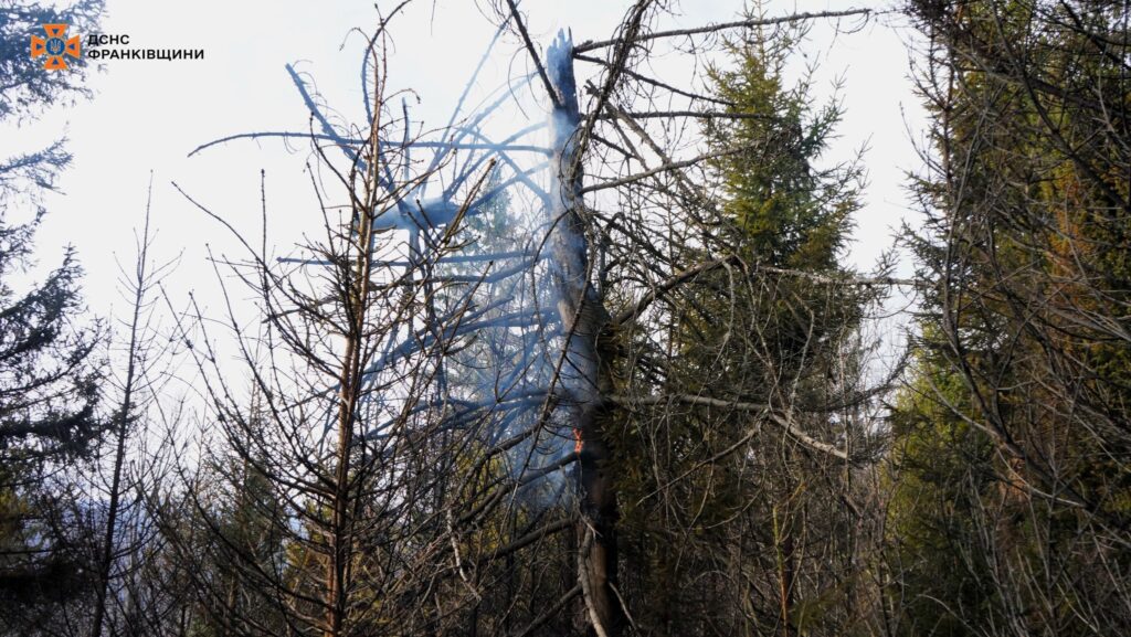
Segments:
[[[901,634],[1125,634],[1126,7],[912,3],[932,143],[895,413]],[[938,577],[916,576],[920,573]]]

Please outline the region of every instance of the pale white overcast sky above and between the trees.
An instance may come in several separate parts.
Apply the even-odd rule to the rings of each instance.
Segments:
[[[388,11],[395,3],[377,5]],[[884,6],[770,1],[767,14],[862,5]],[[523,3],[532,36],[542,48],[559,28],[569,28],[576,42],[606,38],[628,6],[621,0]],[[735,19],[741,0],[683,0],[680,7],[666,27]],[[447,121],[464,78],[493,34],[484,11],[490,11],[487,0],[416,0],[392,24],[390,85],[413,89],[413,117],[425,127]],[[156,249],[167,258],[180,257],[166,287],[180,294],[193,291],[206,304],[218,303],[206,247],[235,255],[235,244],[173,182],[238,230],[258,235],[259,175],[265,171],[269,232],[283,253],[320,221],[303,172],[312,157],[308,145],[278,140],[234,141],[188,154],[233,134],[304,130],[308,112],[285,70],[287,63],[309,74],[344,118],[360,121],[362,32],[371,32],[375,20],[372,0],[107,0],[103,33],[128,34],[135,48],[204,49],[205,58],[106,61],[90,76],[93,100],[2,131],[7,154],[64,132],[75,155],[61,177],[61,193],[46,200],[49,215],[36,241],[41,266],[57,264],[62,247],[74,246],[86,270],[84,287],[93,315],[124,313],[118,264],[132,258],[133,229],[141,224],[153,174]],[[828,24],[818,24],[792,67],[796,74],[808,63],[819,66],[813,86],[818,101],[831,96],[835,80],[843,79],[838,96],[845,118],[827,161],[867,148],[869,188],[848,257],[863,270],[891,246],[895,229],[915,218],[904,175],[918,165],[913,141],[922,135],[924,118],[909,79],[910,37],[896,18],[839,35]],[[518,40],[506,40],[476,91],[485,95],[516,69],[524,72],[526,63]],[[657,63],[663,70],[664,61]],[[670,72],[682,70],[672,67]]]

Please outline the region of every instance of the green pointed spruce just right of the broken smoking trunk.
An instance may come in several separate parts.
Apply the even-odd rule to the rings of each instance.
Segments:
[[[832,405],[852,399],[835,379],[851,367],[869,294],[815,281],[852,274],[840,260],[862,179],[822,156],[838,105],[814,105],[808,77],[788,84],[801,33],[744,35],[709,72],[715,196],[699,224],[673,230],[685,233],[680,260],[732,265],[696,277],[665,319],[664,391],[717,403],[668,405],[627,422],[619,441],[625,571],[656,635],[836,634],[847,622],[828,610],[847,595],[835,583],[847,576],[848,522],[832,497],[845,465],[728,404],[793,412],[817,440],[861,436]]]

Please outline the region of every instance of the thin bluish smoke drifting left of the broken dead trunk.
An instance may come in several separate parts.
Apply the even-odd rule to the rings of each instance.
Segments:
[[[498,34],[484,60],[497,42]],[[589,393],[585,368],[595,364],[569,352],[577,339],[567,338],[560,319],[562,282],[585,276],[584,238],[562,223],[570,188],[561,183],[562,163],[572,161],[578,127],[571,53],[570,37],[559,33],[546,53],[559,89],[552,101],[526,91],[527,78],[466,112],[481,62],[444,128],[414,137],[425,128],[404,103],[382,104],[388,112],[379,118],[387,122],[377,161],[387,201],[370,249],[386,283],[400,277],[417,284],[421,311],[391,326],[366,361],[364,420],[371,424],[362,438],[392,453],[389,442],[403,434],[394,424],[415,405],[412,421],[460,439],[451,450],[472,462],[495,458],[492,466],[517,497],[536,508],[561,503],[573,491],[567,488],[576,455],[567,412]],[[348,164],[343,174],[364,172],[357,150],[368,138],[359,135],[364,128],[336,124],[312,83],[287,69],[320,128],[314,138],[342,148]],[[374,121],[368,85],[363,94]],[[546,121],[516,117],[529,112],[547,113]],[[330,266],[316,257],[290,260]],[[417,364],[428,386],[405,378]],[[325,396],[336,390],[327,387]],[[329,413],[326,419],[328,432],[334,424]]]

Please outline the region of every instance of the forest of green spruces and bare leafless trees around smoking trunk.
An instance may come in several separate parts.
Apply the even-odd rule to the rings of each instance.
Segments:
[[[381,0],[355,109],[288,64],[305,119],[184,149],[304,156],[317,223],[158,175],[236,249],[173,286],[147,208],[113,316],[36,247],[68,140],[0,148],[0,635],[1131,635],[1131,2],[474,1],[447,119]],[[0,1],[0,122],[100,98],[27,46],[105,8]],[[926,129],[857,268],[796,58],[893,24]]]

